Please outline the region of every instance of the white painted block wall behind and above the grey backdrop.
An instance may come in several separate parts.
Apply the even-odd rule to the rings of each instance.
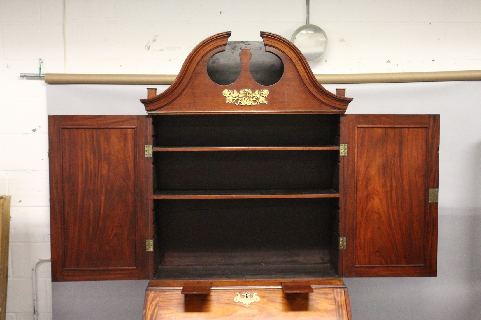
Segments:
[[[31,269],[50,257],[45,84],[19,73],[176,74],[205,37],[290,38],[303,0],[0,0],[0,193],[12,195],[8,320],[32,319]],[[481,69],[479,0],[311,0],[329,47],[314,73]],[[66,56],[64,57],[64,46]],[[64,61],[65,59],[65,61]],[[64,69],[65,67],[65,69]],[[50,264],[38,272],[51,319]]]

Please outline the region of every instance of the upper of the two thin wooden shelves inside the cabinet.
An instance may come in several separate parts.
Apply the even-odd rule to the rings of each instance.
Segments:
[[[215,147],[153,147],[152,151],[300,151],[339,150],[339,146],[215,146]]]

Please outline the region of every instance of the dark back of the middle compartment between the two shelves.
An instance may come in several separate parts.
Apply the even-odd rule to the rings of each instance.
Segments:
[[[160,190],[338,189],[338,151],[154,154]]]

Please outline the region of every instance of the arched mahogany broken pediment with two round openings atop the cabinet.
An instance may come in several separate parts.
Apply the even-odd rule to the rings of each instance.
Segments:
[[[207,63],[216,53],[225,50],[230,32],[205,39],[186,59],[174,83],[155,97],[141,99],[149,114],[153,113],[344,113],[352,100],[334,95],[317,83],[302,53],[287,39],[261,32],[266,51],[274,53],[283,62],[284,73],[272,85],[256,83],[250,72],[251,53],[241,50],[241,74],[232,84],[219,85],[208,76]],[[268,90],[267,103],[255,106],[236,106],[226,103],[225,89]],[[195,103],[194,103],[195,102]]]

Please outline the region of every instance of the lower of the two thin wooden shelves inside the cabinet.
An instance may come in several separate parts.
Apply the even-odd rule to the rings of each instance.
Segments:
[[[152,199],[339,198],[332,189],[309,190],[159,190]]]

